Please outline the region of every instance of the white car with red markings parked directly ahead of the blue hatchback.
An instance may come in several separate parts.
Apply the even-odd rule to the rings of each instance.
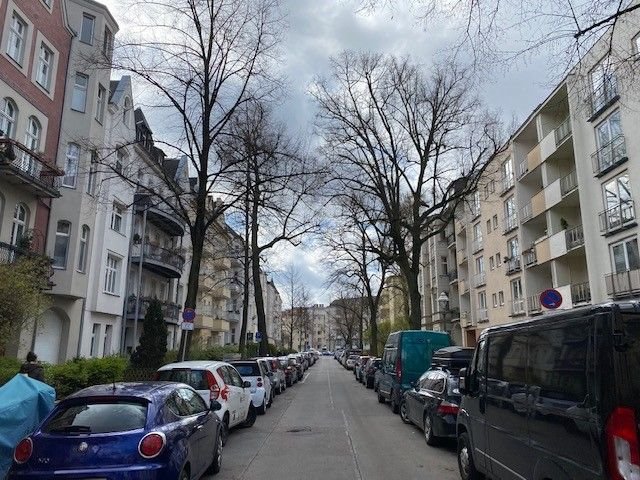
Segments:
[[[243,380],[229,363],[209,360],[170,363],[158,369],[155,379],[186,383],[207,405],[218,401],[221,408],[216,413],[222,420],[223,443],[227,442],[232,427],[250,427],[256,421],[257,411],[251,404],[251,382]]]

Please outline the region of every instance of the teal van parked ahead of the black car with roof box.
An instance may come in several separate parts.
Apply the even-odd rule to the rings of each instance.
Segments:
[[[389,334],[382,355],[378,401],[389,400],[393,413],[398,413],[402,394],[431,367],[433,352],[451,345],[447,332],[401,330]]]

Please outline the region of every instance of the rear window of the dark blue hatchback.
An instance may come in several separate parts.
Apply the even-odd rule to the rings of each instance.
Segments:
[[[146,420],[144,402],[79,403],[58,410],[42,431],[61,435],[126,432],[143,428]]]

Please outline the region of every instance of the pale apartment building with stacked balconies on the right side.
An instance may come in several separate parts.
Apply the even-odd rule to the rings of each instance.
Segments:
[[[630,134],[640,123],[640,94],[629,61],[638,55],[638,25],[640,15],[627,14],[596,43],[491,160],[447,225],[464,345],[487,326],[548,312],[540,303],[547,289],[561,294],[561,309],[640,293],[640,141]],[[445,291],[433,276],[438,256],[442,245],[430,242],[422,278]],[[425,315],[435,315],[435,305],[433,295],[424,298]]]

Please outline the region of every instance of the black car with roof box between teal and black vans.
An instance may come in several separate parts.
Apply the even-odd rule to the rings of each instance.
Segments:
[[[431,368],[404,392],[400,418],[413,423],[424,432],[427,445],[440,438],[456,437],[456,418],[460,407],[458,374],[469,365],[473,348],[446,347],[436,351]]]

